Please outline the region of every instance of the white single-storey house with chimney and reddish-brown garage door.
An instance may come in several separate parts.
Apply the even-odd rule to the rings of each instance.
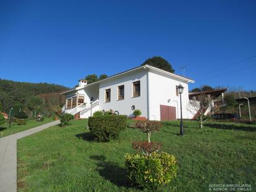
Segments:
[[[182,85],[183,118],[191,119],[188,83],[194,81],[153,66],[139,66],[91,84],[80,80],[77,88],[62,93],[66,96],[62,110],[87,118],[95,111],[110,109],[133,117],[134,110],[139,109],[141,116],[150,120],[177,119],[180,96],[176,88]]]

